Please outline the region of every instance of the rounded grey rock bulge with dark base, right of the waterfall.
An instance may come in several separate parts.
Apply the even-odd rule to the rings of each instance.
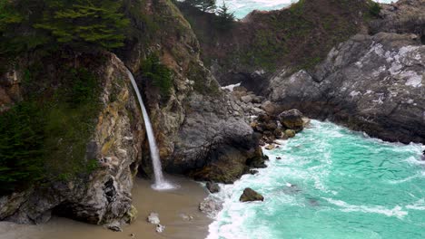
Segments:
[[[198,180],[232,183],[262,160],[258,138],[243,117],[234,117],[225,95],[193,94],[167,170]],[[242,115],[242,114],[241,114]]]

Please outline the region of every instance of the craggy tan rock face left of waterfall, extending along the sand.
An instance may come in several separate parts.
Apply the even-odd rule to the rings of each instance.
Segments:
[[[54,212],[91,224],[119,226],[136,216],[131,189],[144,134],[133,118],[141,113],[123,62],[110,53],[102,57],[104,64],[93,69],[103,84],[102,110],[86,150],[86,158],[96,158],[99,168],[87,177],[0,197],[0,220],[39,224]]]

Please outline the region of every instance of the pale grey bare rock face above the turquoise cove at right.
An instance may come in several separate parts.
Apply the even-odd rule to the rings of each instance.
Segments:
[[[424,143],[424,75],[425,46],[409,34],[358,34],[313,72],[276,73],[270,97],[283,109],[300,109],[373,137]]]

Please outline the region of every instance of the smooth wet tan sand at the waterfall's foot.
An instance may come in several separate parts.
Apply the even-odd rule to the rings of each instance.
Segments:
[[[114,233],[102,226],[87,225],[70,219],[54,217],[45,225],[15,225],[0,222],[1,239],[122,239],[173,238],[202,239],[208,234],[212,220],[198,210],[199,203],[207,193],[203,187],[182,177],[170,177],[181,187],[173,191],[158,192],[148,180],[137,178],[133,188],[133,205],[139,214],[132,225],[124,226],[122,233]],[[163,234],[155,232],[155,225],[146,222],[151,212],[159,214],[165,225]],[[181,214],[193,215],[192,221],[183,220]]]

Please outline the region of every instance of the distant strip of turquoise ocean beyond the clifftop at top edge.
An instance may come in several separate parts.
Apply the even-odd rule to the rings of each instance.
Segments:
[[[236,18],[242,19],[252,10],[275,10],[298,2],[298,0],[224,0],[230,10],[234,12]],[[391,0],[377,0],[375,2],[390,3]],[[392,0],[392,2],[396,2]],[[217,5],[222,5],[221,0],[217,0]]]

